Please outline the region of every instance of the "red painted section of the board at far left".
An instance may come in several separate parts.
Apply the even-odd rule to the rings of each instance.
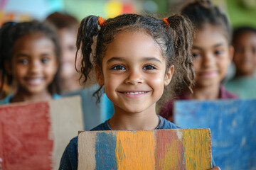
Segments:
[[[49,114],[47,102],[0,106],[0,157],[4,170],[52,169]]]

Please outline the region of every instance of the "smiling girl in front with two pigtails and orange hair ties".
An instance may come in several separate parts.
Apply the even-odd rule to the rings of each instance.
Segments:
[[[192,38],[191,22],[180,15],[164,20],[137,14],[123,14],[107,21],[97,16],[84,18],[77,38],[77,48],[82,52],[82,75],[86,81],[95,68],[100,85],[95,96],[100,98],[104,87],[114,105],[112,118],[92,130],[178,128],[156,114],[156,102],[169,97],[162,95],[174,93],[183,82],[191,89]],[[75,137],[66,147],[59,169],[77,167],[78,137]]]

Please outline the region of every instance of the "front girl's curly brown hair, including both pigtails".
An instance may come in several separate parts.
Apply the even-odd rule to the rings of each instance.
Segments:
[[[78,29],[77,48],[82,52],[81,77],[90,79],[89,73],[97,64],[102,68],[102,58],[105,56],[107,45],[114,40],[117,33],[125,30],[143,31],[155,40],[161,48],[162,55],[166,60],[166,68],[174,65],[174,76],[171,84],[165,89],[164,98],[173,95],[184,85],[191,89],[193,85],[194,72],[191,55],[193,42],[193,26],[191,21],[181,15],[167,18],[169,24],[162,19],[152,16],[141,16],[137,14],[123,14],[115,18],[109,18],[101,27],[98,25],[97,16],[87,16],[80,23]],[[96,50],[93,52],[92,43],[97,36]],[[78,51],[76,55],[78,59]],[[100,101],[102,86],[95,91],[94,96]],[[171,93],[171,94],[170,94]],[[163,99],[163,98],[162,98]]]

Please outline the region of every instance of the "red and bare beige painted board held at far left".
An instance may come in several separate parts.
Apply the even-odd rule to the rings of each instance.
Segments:
[[[82,129],[79,96],[0,106],[3,169],[58,169],[65,147]]]

